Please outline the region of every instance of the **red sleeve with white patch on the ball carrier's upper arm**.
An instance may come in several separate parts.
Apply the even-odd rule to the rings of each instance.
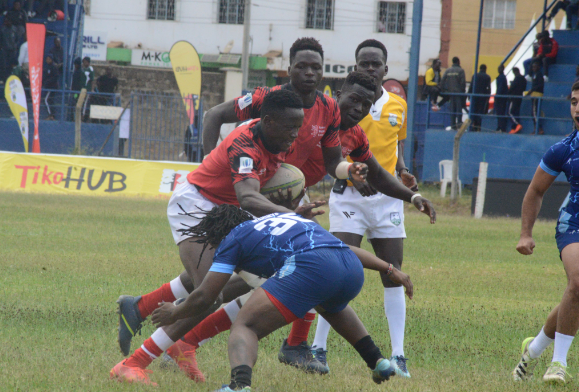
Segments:
[[[257,168],[259,167],[259,152],[254,141],[247,135],[240,135],[227,149],[231,166],[231,181],[233,185],[248,178],[259,181]]]

